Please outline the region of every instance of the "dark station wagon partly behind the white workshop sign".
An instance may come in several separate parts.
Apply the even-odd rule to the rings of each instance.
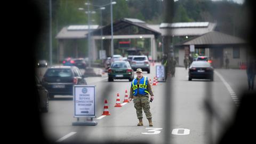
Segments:
[[[75,66],[55,66],[48,68],[42,79],[42,84],[49,92],[49,97],[54,95],[73,95],[73,85],[86,85],[86,80],[81,71]]]

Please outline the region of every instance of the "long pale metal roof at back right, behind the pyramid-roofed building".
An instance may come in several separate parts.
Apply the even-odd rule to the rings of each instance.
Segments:
[[[161,25],[147,25],[162,34],[162,36],[200,36],[216,27],[212,22],[178,22],[161,23]]]

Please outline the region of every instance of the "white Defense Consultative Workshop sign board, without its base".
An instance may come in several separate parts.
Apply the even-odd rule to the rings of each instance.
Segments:
[[[95,117],[95,86],[74,85],[74,117]]]

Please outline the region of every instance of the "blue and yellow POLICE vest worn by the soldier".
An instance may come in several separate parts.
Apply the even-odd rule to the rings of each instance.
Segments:
[[[139,90],[138,90],[138,80],[137,78],[134,78],[132,81],[132,89],[133,89],[133,95],[137,96],[138,92],[141,95],[146,95],[149,92],[147,91],[147,87],[148,87],[148,77],[142,77],[140,79],[140,84],[139,84]]]

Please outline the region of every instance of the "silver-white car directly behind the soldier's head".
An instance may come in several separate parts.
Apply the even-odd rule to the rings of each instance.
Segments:
[[[142,71],[150,73],[150,64],[147,55],[134,55],[131,63],[132,69],[141,68]]]

